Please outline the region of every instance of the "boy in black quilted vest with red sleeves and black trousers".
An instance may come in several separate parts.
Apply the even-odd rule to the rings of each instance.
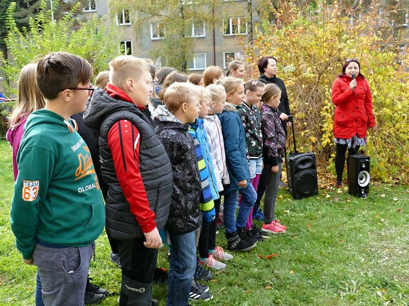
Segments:
[[[120,56],[109,63],[105,91],[96,89],[84,121],[99,131],[101,172],[108,184],[106,233],[119,248],[121,306],[150,305],[159,235],[168,219],[172,167],[147,108],[149,66]]]

